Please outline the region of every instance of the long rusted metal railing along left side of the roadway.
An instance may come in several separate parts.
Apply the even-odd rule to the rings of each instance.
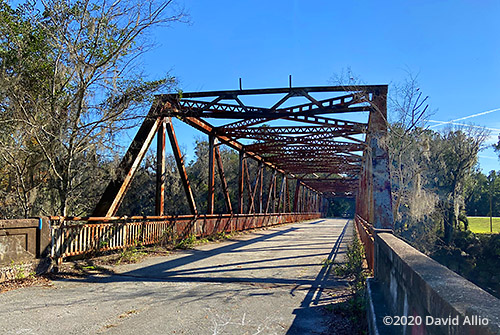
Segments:
[[[51,218],[51,256],[65,257],[89,252],[123,249],[138,244],[151,245],[188,236],[206,237],[317,219],[320,213],[183,215],[131,218]],[[100,220],[99,220],[100,219]],[[103,219],[105,221],[103,221]]]

